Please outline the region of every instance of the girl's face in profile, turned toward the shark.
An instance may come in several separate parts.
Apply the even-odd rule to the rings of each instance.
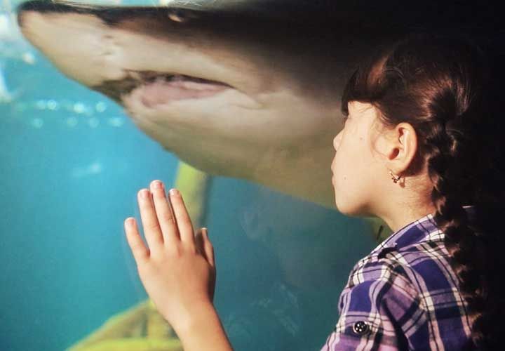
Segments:
[[[379,199],[374,199],[380,191],[379,172],[384,172],[384,164],[373,157],[373,122],[375,107],[368,103],[351,101],[348,104],[349,117],[344,128],[333,140],[335,157],[332,161],[332,184],[335,190],[337,209],[346,215],[374,216],[372,209]]]

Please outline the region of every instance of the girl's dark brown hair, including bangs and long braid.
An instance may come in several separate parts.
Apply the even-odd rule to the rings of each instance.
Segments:
[[[501,82],[490,56],[462,34],[415,33],[379,49],[346,84],[342,113],[349,114],[349,101],[368,102],[385,128],[400,122],[415,128],[419,152],[400,176],[427,165],[434,220],[468,303],[467,349],[499,350],[505,317],[498,289],[505,256]],[[475,206],[475,218],[464,205]]]

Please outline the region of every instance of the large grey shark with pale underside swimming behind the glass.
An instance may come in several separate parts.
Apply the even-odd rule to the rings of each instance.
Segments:
[[[335,208],[332,140],[358,62],[412,30],[486,38],[497,26],[492,9],[374,4],[34,0],[17,12],[62,74],[117,102],[182,161]]]

